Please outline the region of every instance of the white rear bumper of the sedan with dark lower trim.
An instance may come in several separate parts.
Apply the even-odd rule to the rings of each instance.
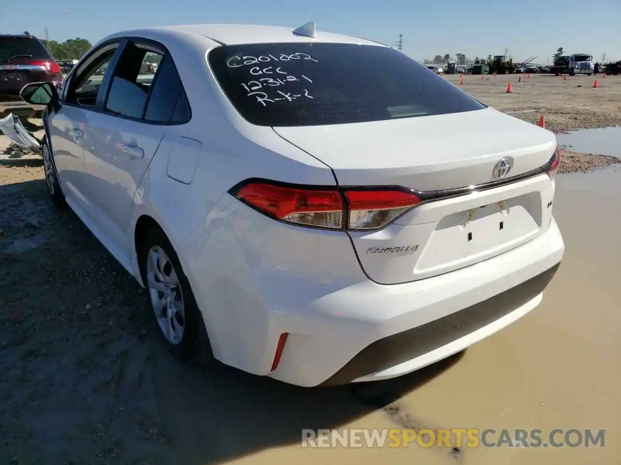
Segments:
[[[345,234],[288,226],[227,196],[210,217],[179,257],[215,358],[306,387],[401,376],[460,352],[535,308],[564,253],[551,219],[491,259],[379,285]]]

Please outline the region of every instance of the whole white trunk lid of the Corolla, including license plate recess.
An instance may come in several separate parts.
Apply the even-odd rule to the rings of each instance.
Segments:
[[[276,127],[329,165],[342,186],[437,191],[485,184],[501,158],[505,178],[542,167],[556,136],[492,108],[350,125]],[[404,283],[473,265],[519,247],[550,225],[548,175],[424,203],[380,231],[350,234],[361,266],[381,284]]]

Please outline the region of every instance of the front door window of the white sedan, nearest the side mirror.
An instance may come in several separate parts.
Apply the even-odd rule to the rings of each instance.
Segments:
[[[76,69],[68,76],[69,87],[66,89],[65,103],[81,107],[94,107],[97,94],[104,79],[104,73],[118,45],[104,47],[105,51],[94,60],[87,61],[86,67]],[[67,78],[66,78],[67,79]]]

